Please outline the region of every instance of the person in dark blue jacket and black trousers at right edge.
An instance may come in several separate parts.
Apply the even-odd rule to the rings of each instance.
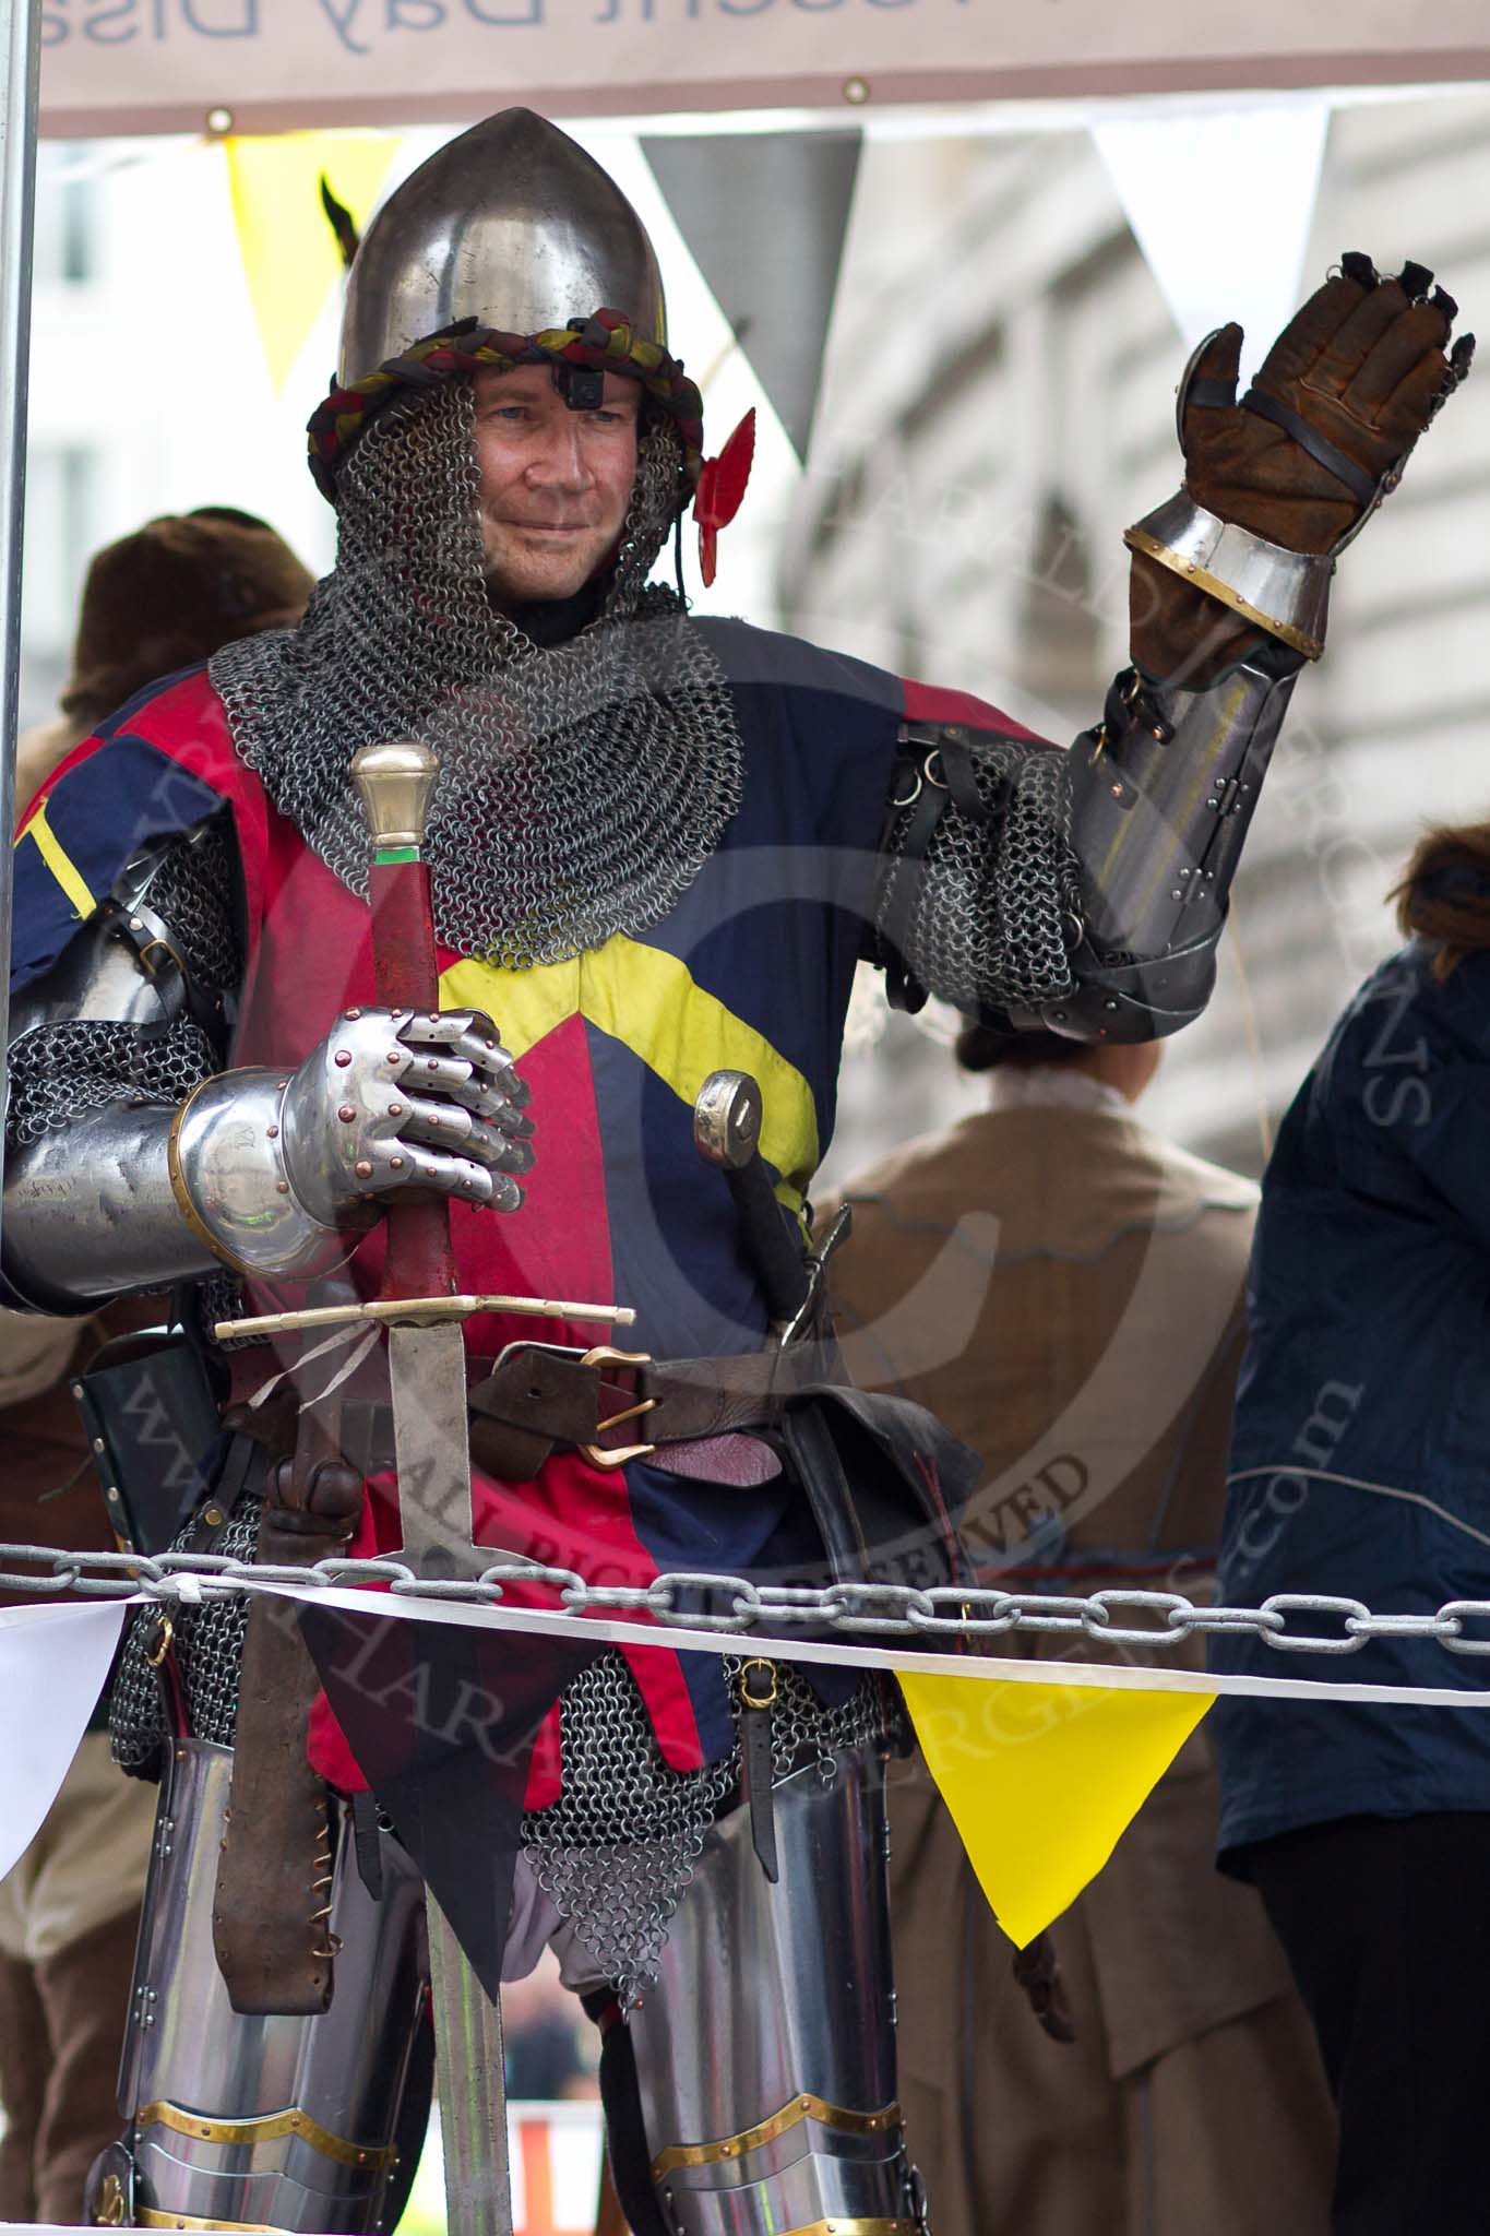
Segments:
[[[1336,1024],[1262,1185],[1222,1547],[1233,1605],[1490,1599],[1490,823],[1423,839],[1396,899],[1410,944]],[[1463,1637],[1486,1626],[1465,1619]],[[1490,1686],[1486,1659],[1432,1639],[1284,1661],[1231,1635],[1211,1664]],[[1211,1724],[1222,1869],[1262,1892],[1340,2109],[1336,2236],[1490,2227],[1490,1719],[1222,1699]]]

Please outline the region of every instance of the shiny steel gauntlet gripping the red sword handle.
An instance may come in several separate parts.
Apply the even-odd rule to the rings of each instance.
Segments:
[[[483,1011],[348,1008],[284,1089],[284,1172],[326,1228],[402,1187],[516,1212],[512,1174],[534,1160],[525,1102]]]

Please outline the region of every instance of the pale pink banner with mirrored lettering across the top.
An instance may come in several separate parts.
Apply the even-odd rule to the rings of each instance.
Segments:
[[[42,0],[65,136],[1465,78],[1483,0]]]

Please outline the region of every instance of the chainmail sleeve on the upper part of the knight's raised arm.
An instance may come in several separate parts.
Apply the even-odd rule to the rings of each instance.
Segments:
[[[914,722],[900,733],[869,957],[898,1008],[927,993],[965,1015],[1070,995],[1081,877],[1068,756],[1023,738]]]

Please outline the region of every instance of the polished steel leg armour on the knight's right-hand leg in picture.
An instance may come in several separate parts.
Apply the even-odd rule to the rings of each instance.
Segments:
[[[885,1771],[862,1749],[710,1829],[628,2035],[670,2236],[914,2236],[896,2104]]]

